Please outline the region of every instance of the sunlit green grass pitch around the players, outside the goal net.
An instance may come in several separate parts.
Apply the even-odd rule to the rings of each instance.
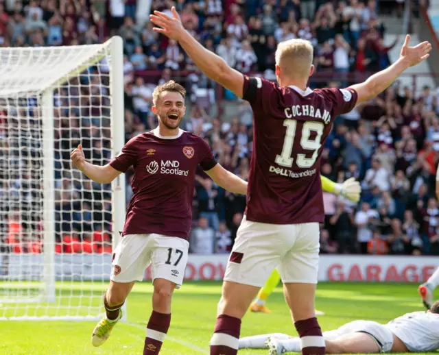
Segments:
[[[316,308],[323,330],[332,330],[354,319],[385,323],[414,310],[423,310],[415,284],[318,285]],[[1,283],[0,283],[1,288]],[[161,355],[209,354],[209,339],[215,326],[219,282],[185,282],[174,294],[172,321]],[[99,348],[91,345],[95,322],[90,321],[0,321],[0,354],[8,355],[104,355],[142,354],[147,319],[151,313],[152,286],[134,286],[128,298],[128,322],[119,323],[110,339]],[[278,287],[269,298],[272,314],[248,313],[241,336],[269,332],[296,334]],[[244,354],[268,354],[267,350],[241,350]]]

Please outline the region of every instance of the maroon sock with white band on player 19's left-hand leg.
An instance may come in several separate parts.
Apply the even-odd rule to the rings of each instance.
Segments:
[[[211,355],[237,355],[241,319],[219,315],[211,339]]]

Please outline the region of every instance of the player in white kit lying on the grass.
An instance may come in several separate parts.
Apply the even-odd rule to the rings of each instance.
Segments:
[[[387,324],[351,321],[323,332],[327,354],[431,352],[439,350],[439,301],[427,312],[407,313]],[[300,352],[300,338],[264,334],[239,339],[239,349],[270,349],[270,355]]]

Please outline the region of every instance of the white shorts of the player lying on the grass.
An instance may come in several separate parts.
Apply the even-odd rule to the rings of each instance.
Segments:
[[[324,339],[334,340],[346,334],[353,334],[362,332],[369,334],[370,337],[377,343],[380,352],[390,352],[393,346],[393,333],[385,328],[383,324],[376,321],[351,321],[344,324],[337,330],[324,332]]]

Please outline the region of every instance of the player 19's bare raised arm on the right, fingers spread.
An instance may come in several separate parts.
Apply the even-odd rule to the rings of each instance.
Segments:
[[[409,47],[409,42],[410,35],[407,34],[399,60],[396,60],[387,69],[372,75],[366,82],[351,86],[357,92],[357,103],[368,101],[379,95],[392,85],[405,69],[419,64],[429,57],[429,52],[431,51],[431,44],[429,42],[422,42],[415,47]]]

